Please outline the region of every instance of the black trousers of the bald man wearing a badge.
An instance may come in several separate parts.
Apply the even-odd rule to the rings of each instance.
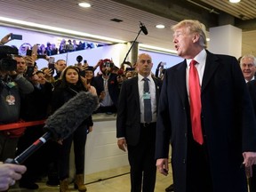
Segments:
[[[128,145],[128,159],[131,166],[131,192],[154,192],[156,183],[155,160],[156,124],[140,125],[138,145]],[[143,183],[142,183],[143,180]]]

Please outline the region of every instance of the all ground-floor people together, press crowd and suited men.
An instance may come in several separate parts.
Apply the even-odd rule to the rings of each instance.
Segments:
[[[168,69],[159,63],[155,75],[147,53],[126,68],[124,64],[117,68],[109,59],[94,66],[78,62],[68,67],[65,60],[57,60],[56,76],[52,68],[36,68],[32,57],[16,55],[17,67],[0,65],[1,108],[10,111],[0,113],[0,123],[45,119],[78,92],[91,92],[100,103],[94,113],[117,114],[117,146],[128,152],[132,192],[155,191],[156,171],[165,176],[170,171],[170,147],[173,184],[166,191],[247,192],[246,177],[250,191],[256,191],[255,57],[244,55],[238,61],[207,51],[205,27],[197,20],[182,20],[172,29],[175,49],[184,60]],[[8,41],[9,35],[1,43]],[[2,60],[6,58],[1,54]],[[100,73],[94,75],[96,68]],[[19,134],[12,132],[15,129],[1,131],[0,161],[19,155],[36,134],[42,134],[43,126],[29,126]],[[24,172],[20,187],[36,189],[35,179],[47,170],[53,175],[48,181],[60,184],[60,192],[69,192],[72,142],[74,188],[86,191],[84,146],[92,127],[89,116],[67,139],[47,143],[24,162],[27,172],[23,165],[0,164],[0,191],[14,185]],[[6,172],[15,172],[15,177]]]

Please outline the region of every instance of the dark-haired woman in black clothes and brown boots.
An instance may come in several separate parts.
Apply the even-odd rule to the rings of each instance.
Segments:
[[[75,66],[68,66],[62,71],[60,84],[52,93],[52,112],[60,108],[68,100],[76,96],[78,92],[87,92],[81,79],[80,69]],[[60,192],[69,192],[69,153],[72,141],[74,141],[74,153],[76,164],[75,188],[78,191],[86,191],[84,185],[84,148],[89,128],[92,130],[92,116],[84,119],[67,139],[60,141],[60,154],[58,156],[58,169],[60,178]]]

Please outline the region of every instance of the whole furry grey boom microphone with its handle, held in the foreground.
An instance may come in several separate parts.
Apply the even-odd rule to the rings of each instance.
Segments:
[[[68,138],[84,119],[92,115],[99,107],[98,97],[91,92],[78,92],[74,98],[68,100],[63,106],[49,116],[45,121],[44,135],[36,140],[30,147],[14,159],[7,159],[4,163],[22,164],[47,140],[64,140]]]

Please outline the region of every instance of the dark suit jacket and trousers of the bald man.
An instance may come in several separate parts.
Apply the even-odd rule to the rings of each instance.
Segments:
[[[158,103],[161,82],[156,84],[156,103]],[[124,81],[119,95],[116,137],[125,138],[128,159],[131,165],[132,192],[153,192],[156,182],[156,122],[143,126],[140,124],[140,94],[138,77]]]

